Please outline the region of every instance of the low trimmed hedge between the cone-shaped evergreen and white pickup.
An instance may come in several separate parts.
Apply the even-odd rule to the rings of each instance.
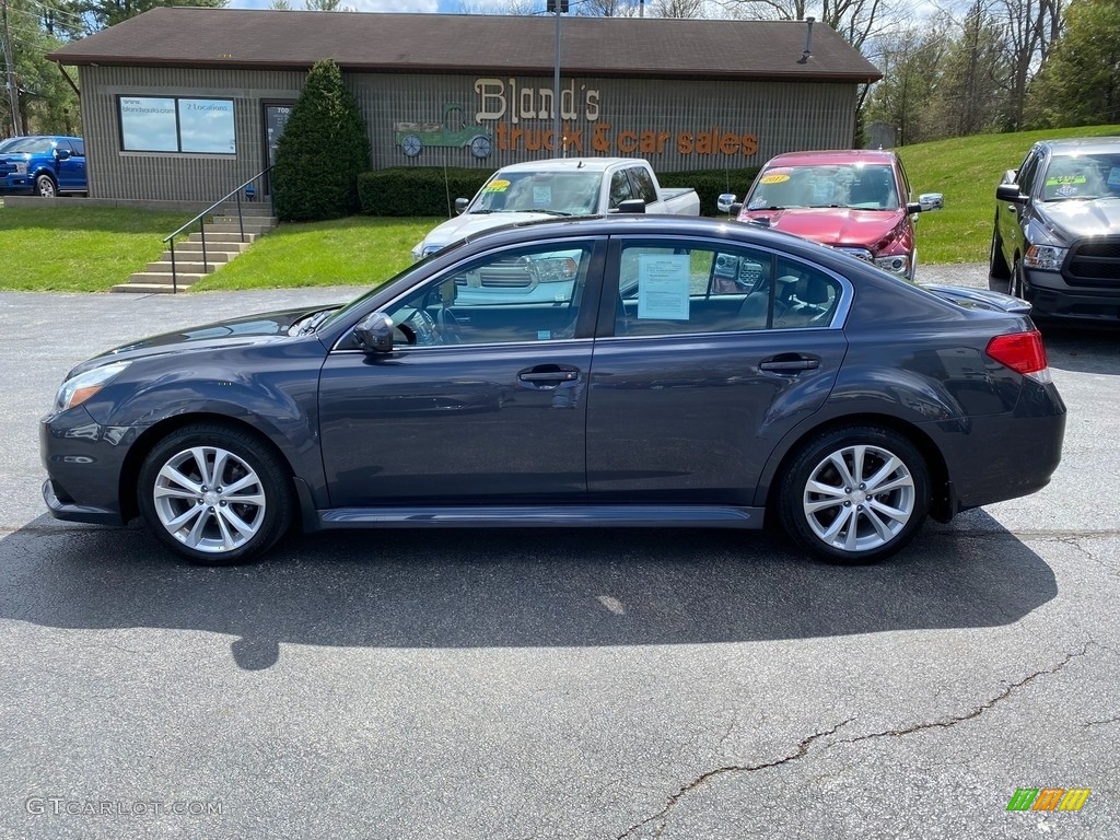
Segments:
[[[371,216],[452,216],[456,198],[472,198],[489,169],[395,167],[362,172],[357,192]]]

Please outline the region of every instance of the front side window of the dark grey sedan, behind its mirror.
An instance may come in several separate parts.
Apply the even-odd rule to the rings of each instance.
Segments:
[[[591,251],[590,242],[502,251],[426,282],[385,314],[398,340],[417,346],[572,338]]]

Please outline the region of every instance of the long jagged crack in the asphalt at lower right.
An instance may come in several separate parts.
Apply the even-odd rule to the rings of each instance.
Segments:
[[[1046,669],[1043,669],[1040,671],[1035,671],[1034,673],[1028,674],[1027,676],[1024,676],[1018,682],[1012,682],[1007,688],[1005,688],[1001,692],[999,692],[998,694],[996,694],[996,697],[993,697],[990,700],[988,700],[988,701],[986,701],[986,702],[983,702],[983,703],[974,707],[973,709],[970,709],[964,715],[956,715],[956,716],[949,717],[949,718],[942,718],[941,720],[923,721],[921,724],[915,724],[913,726],[908,726],[908,727],[905,727],[903,729],[886,729],[886,730],[880,731],[880,732],[868,732],[867,735],[860,735],[859,737],[856,737],[856,738],[843,738],[843,739],[834,740],[834,741],[832,741],[830,744],[827,744],[823,747],[823,749],[831,749],[832,747],[836,747],[836,746],[846,746],[846,745],[849,745],[849,744],[859,744],[860,741],[871,740],[874,738],[899,738],[899,737],[904,737],[904,736],[907,736],[907,735],[913,735],[914,732],[920,732],[920,731],[923,731],[923,730],[926,730],[926,729],[950,728],[950,727],[956,726],[958,724],[963,724],[963,722],[965,722],[968,720],[974,720],[976,718],[979,718],[984,712],[990,711],[998,703],[1001,703],[1004,700],[1007,700],[1009,697],[1011,697],[1011,694],[1014,694],[1019,689],[1021,689],[1021,688],[1024,688],[1026,685],[1029,685],[1035,680],[1038,680],[1040,678],[1053,676],[1054,674],[1056,674],[1060,671],[1062,671],[1062,669],[1064,669],[1073,660],[1080,659],[1081,656],[1086,655],[1089,653],[1089,647],[1090,647],[1091,644],[1095,644],[1095,643],[1094,642],[1086,642],[1082,646],[1082,648],[1080,651],[1071,651],[1071,652],[1066,653],[1065,657],[1062,661],[1057,662],[1056,664],[1052,665],[1051,668],[1046,668]],[[814,732],[813,735],[810,735],[808,738],[804,738],[797,745],[797,748],[793,753],[791,753],[790,755],[783,756],[782,758],[777,758],[777,759],[775,759],[773,762],[765,762],[763,764],[754,764],[754,765],[728,765],[728,766],[724,766],[724,767],[717,767],[715,769],[710,769],[710,771],[707,771],[706,773],[700,774],[699,776],[697,776],[696,778],[693,778],[688,784],[682,785],[676,791],[676,793],[671,794],[669,796],[669,800],[665,803],[665,806],[663,809],[661,809],[657,813],[653,814],[652,816],[647,816],[646,819],[642,820],[641,822],[634,823],[628,829],[626,829],[626,831],[624,831],[623,833],[618,834],[615,838],[615,840],[625,840],[625,838],[628,838],[631,834],[633,834],[638,829],[645,828],[646,825],[648,825],[650,823],[653,823],[653,822],[657,823],[656,829],[654,829],[653,837],[654,838],[660,838],[664,833],[665,828],[669,824],[669,816],[672,813],[673,809],[676,806],[676,804],[682,799],[684,799],[689,793],[691,793],[692,791],[697,790],[698,787],[701,787],[702,785],[707,784],[712,778],[726,775],[728,773],[754,773],[755,771],[769,769],[772,767],[778,767],[778,766],[781,766],[783,764],[787,764],[790,762],[795,762],[795,760],[797,760],[800,758],[804,758],[806,755],[809,755],[810,747],[812,747],[812,745],[815,741],[820,740],[821,738],[827,738],[830,735],[834,735],[841,727],[847,726],[848,724],[852,722],[856,718],[848,718],[847,720],[843,720],[843,721],[837,724],[831,729],[825,729],[823,731],[819,731],[819,732]],[[1120,722],[1120,718],[1111,718],[1109,720],[1101,720],[1101,721],[1091,721],[1090,724],[1086,724],[1085,726],[1094,726],[1094,725],[1102,725],[1103,726],[1105,724],[1114,724],[1114,722]],[[732,721],[731,727],[728,729],[727,734],[720,739],[720,746],[722,746],[722,743],[727,739],[727,736],[730,735],[731,728],[734,728],[734,721]]]

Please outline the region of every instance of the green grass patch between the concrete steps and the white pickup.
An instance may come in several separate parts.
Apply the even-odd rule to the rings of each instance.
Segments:
[[[442,221],[351,216],[282,224],[193,288],[376,286],[407,268],[412,246]]]

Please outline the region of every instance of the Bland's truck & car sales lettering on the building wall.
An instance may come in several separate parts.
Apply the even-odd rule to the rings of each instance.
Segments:
[[[498,151],[557,151],[552,122],[556,94],[551,87],[516,78],[475,80],[475,122],[493,125]],[[624,123],[604,114],[601,91],[575,80],[560,90],[560,144],[572,155],[642,155],[749,158],[758,151],[758,136],[740,127],[694,125],[662,130]]]

